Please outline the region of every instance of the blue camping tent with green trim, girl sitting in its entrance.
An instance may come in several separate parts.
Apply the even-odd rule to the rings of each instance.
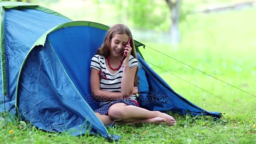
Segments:
[[[0,112],[9,111],[37,128],[83,135],[86,131],[117,140],[93,110],[99,104],[90,90],[90,61],[101,46],[108,26],[72,21],[47,8],[30,3],[0,2]],[[165,83],[139,59],[141,107],[181,115],[211,115]]]

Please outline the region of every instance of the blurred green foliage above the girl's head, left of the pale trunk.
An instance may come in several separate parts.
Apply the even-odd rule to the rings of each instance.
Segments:
[[[169,9],[163,0],[106,0],[115,5],[119,21],[128,22],[132,27],[167,30],[170,25]]]

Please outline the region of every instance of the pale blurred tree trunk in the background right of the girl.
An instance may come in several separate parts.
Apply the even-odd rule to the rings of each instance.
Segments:
[[[165,0],[168,3],[169,9],[171,11],[171,43],[175,45],[175,48],[178,48],[180,41],[180,32],[179,32],[179,11],[180,11],[180,0],[175,2],[171,0]]]

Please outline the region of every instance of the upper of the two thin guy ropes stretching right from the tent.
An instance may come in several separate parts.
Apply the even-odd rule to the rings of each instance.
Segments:
[[[147,45],[145,45],[145,46],[147,46]],[[152,49],[152,50],[154,50],[154,51],[157,51],[157,50],[155,50],[154,48],[151,48],[151,47],[149,47],[149,46],[147,46],[148,48],[150,48],[150,49]],[[162,53],[162,52],[160,52],[160,51],[157,51],[158,53],[161,53],[161,54],[163,54],[163,55],[165,55],[165,56],[167,56],[167,57],[169,57],[169,58],[171,58],[171,59],[174,59],[173,57],[171,57],[171,56],[168,56],[168,55],[166,55],[165,53]],[[213,78],[215,78],[216,80],[219,80],[219,81],[221,81],[222,83],[225,83],[225,84],[227,84],[227,85],[230,85],[230,86],[232,86],[233,88],[236,88],[236,89],[238,89],[238,90],[240,90],[240,91],[243,91],[244,93],[247,93],[247,94],[249,94],[249,95],[251,95],[251,96],[254,96],[254,97],[256,97],[255,95],[253,95],[253,94],[251,94],[251,93],[249,93],[249,92],[247,92],[247,91],[244,91],[244,90],[242,90],[241,88],[237,88],[236,86],[234,86],[234,85],[231,85],[231,84],[229,84],[229,83],[227,83],[227,82],[224,82],[223,80],[220,80],[220,79],[218,79],[217,77],[214,77],[214,76],[212,76],[212,75],[209,75],[209,74],[207,74],[206,72],[203,72],[203,71],[201,71],[201,70],[199,70],[199,69],[197,69],[197,68],[195,68],[195,67],[192,67],[192,66],[190,66],[190,65],[188,65],[188,64],[185,64],[184,62],[182,62],[182,61],[179,61],[179,60],[177,60],[177,59],[174,59],[175,61],[178,61],[178,62],[180,62],[181,64],[184,64],[184,65],[186,65],[186,66],[188,66],[188,67],[191,67],[192,69],[195,69],[195,70],[197,70],[197,71],[199,71],[199,72],[202,72],[203,74],[205,74],[205,75],[208,75],[208,76],[210,76],[210,77],[213,77]]]

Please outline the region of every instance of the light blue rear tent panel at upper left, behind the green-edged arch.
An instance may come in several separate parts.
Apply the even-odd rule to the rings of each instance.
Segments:
[[[35,41],[52,27],[70,21],[35,9],[5,9],[4,48],[6,61],[6,78],[8,91],[7,109],[13,109],[16,83],[21,64]],[[9,101],[11,103],[9,104]]]

